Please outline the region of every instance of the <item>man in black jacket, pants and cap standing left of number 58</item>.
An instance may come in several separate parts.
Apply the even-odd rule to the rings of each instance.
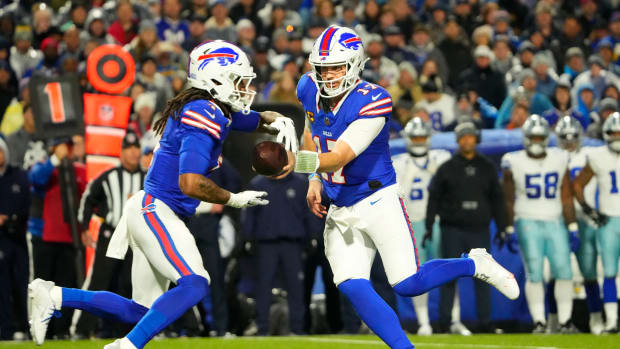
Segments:
[[[498,232],[503,232],[506,226],[497,169],[476,151],[479,130],[473,122],[466,121],[460,123],[454,132],[459,149],[437,170],[429,188],[426,214],[427,232],[433,231],[435,216],[439,215],[443,258],[458,258],[472,248],[482,247],[489,251],[491,219],[495,219]],[[430,239],[431,235],[427,233],[424,240]],[[493,332],[489,286],[479,280],[474,282],[479,331]],[[451,323],[455,285],[451,282],[441,288],[439,321],[444,331]]]

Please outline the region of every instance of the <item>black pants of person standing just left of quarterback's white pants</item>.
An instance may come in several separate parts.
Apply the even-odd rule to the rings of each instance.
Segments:
[[[342,319],[340,317],[340,293],[334,284],[334,274],[325,257],[325,245],[323,241],[308,252],[304,266],[304,299],[306,302],[305,329],[310,333],[317,324],[311,323],[310,301],[312,288],[314,287],[314,277],[316,269],[321,266],[321,276],[325,285],[325,310],[329,333],[338,333],[342,330]]]

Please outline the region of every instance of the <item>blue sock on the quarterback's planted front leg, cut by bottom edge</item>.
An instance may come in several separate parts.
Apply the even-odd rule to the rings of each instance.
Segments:
[[[379,297],[370,281],[349,279],[338,285],[338,289],[351,301],[360,318],[390,348],[414,348],[400,327],[396,313]]]

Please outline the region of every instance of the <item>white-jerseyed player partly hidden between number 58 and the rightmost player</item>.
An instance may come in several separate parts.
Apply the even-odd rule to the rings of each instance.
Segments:
[[[555,127],[560,148],[568,154],[568,169],[571,180],[574,180],[586,165],[586,156],[592,151],[592,147],[582,147],[581,138],[583,128],[577,119],[565,116],[558,121]],[[585,187],[586,203],[590,207],[596,206],[596,180],[591,180]],[[575,214],[579,224],[579,250],[575,253],[579,264],[579,270],[584,279],[584,288],[590,312],[590,332],[601,334],[603,331],[601,291],[597,281],[596,261],[598,249],[596,244],[596,224],[583,212],[579,202],[575,200]],[[549,314],[551,322],[551,314]]]

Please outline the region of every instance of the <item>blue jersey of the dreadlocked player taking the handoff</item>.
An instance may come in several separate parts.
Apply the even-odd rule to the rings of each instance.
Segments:
[[[146,175],[144,191],[179,216],[193,216],[199,200],[183,194],[179,176],[198,173],[208,177],[221,164],[222,144],[230,130],[250,131],[258,125],[256,112],[234,113],[231,118],[207,100],[188,103],[177,120],[170,117]]]

